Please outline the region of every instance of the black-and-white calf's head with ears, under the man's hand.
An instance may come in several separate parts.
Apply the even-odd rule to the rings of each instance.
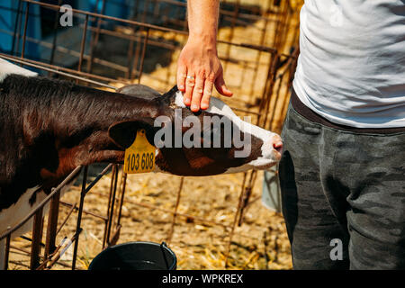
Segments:
[[[157,148],[155,172],[218,175],[266,169],[280,160],[280,136],[242,121],[218,98],[211,98],[207,110],[194,113],[176,87],[163,95],[143,85],[127,85],[118,92],[157,100],[157,117],[120,121],[109,129],[122,149],[130,147],[137,130],[146,130]]]

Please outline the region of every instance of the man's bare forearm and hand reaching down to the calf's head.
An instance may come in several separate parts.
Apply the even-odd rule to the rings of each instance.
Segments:
[[[225,85],[217,51],[220,1],[187,3],[189,37],[177,62],[177,86],[184,92],[184,104],[198,112],[208,108],[214,85],[224,96],[231,96],[232,92]]]

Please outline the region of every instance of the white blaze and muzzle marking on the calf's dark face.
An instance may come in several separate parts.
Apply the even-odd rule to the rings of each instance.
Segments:
[[[175,95],[175,104],[178,107],[185,107],[183,103],[183,93],[180,91]],[[276,133],[262,129],[247,121],[242,121],[232,109],[230,109],[229,105],[215,97],[211,97],[210,106],[205,112],[210,112],[211,114],[217,114],[219,116],[226,116],[238,127],[240,133],[251,134],[257,139],[263,141],[263,145],[260,148],[261,155],[243,166],[229,168],[227,173],[247,171],[251,168],[266,169],[270,166],[274,166],[280,160],[283,144],[282,139]]]

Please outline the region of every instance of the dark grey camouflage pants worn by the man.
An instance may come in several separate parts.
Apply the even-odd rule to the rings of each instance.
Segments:
[[[294,269],[405,269],[405,133],[355,133],[290,104],[279,175]]]

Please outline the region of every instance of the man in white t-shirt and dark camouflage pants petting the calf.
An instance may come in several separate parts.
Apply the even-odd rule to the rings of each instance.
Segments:
[[[230,95],[206,49],[218,1],[188,7],[178,83],[213,67],[195,94],[185,81],[204,109],[211,83]],[[293,266],[405,269],[405,0],[305,0],[300,49],[279,167]]]

